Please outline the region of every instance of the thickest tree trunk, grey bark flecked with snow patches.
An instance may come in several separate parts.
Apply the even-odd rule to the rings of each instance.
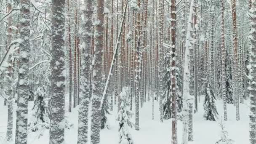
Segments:
[[[50,144],[64,144],[65,0],[52,0]]]

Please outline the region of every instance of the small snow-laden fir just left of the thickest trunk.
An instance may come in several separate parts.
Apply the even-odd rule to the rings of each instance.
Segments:
[[[45,85],[42,85],[37,88],[37,91],[35,92],[35,101],[34,101],[34,107],[32,108],[32,121],[29,123],[28,126],[30,126],[31,131],[35,132],[38,130],[39,126],[49,128],[49,118],[48,118],[48,104],[45,102],[46,98],[46,87]],[[38,125],[38,126],[37,126]]]

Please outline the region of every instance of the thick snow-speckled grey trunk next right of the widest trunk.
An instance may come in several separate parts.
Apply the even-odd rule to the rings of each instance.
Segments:
[[[81,85],[80,85],[80,106],[78,111],[78,136],[77,144],[87,144],[88,142],[88,109],[90,98],[90,67],[91,67],[91,33],[93,1],[85,0],[85,12],[83,27],[83,43],[81,57]]]

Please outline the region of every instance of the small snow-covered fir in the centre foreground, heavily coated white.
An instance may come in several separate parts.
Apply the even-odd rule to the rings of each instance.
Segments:
[[[120,93],[120,110],[117,114],[117,121],[119,123],[119,144],[133,144],[131,133],[128,128],[133,127],[131,122],[132,113],[129,109],[129,88],[123,87],[123,91]]]

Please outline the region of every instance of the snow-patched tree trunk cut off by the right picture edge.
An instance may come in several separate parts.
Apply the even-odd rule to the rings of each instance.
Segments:
[[[250,129],[249,129],[249,136],[250,136],[250,144],[256,144],[256,0],[252,0],[250,10],[250,17],[251,17],[251,33],[250,33],[250,40],[251,40],[251,56],[250,56],[250,64],[247,66],[250,75],[250,86],[248,90],[250,91]]]

